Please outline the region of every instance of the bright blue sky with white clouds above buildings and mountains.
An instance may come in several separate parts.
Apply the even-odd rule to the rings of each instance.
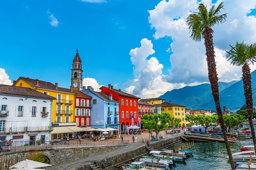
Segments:
[[[100,3],[91,3],[95,1]],[[208,7],[219,2],[204,0]],[[5,72],[0,70],[0,83],[23,76],[69,88],[76,48],[83,78],[95,79],[85,79],[85,86],[111,83],[134,95],[158,97],[174,88],[208,82],[203,42],[192,41],[184,24],[198,3],[3,1],[0,69]],[[256,2],[226,0],[224,5],[228,18],[213,28],[214,45],[220,81],[229,82],[240,79],[241,68],[230,66],[225,50],[236,41],[255,42]]]

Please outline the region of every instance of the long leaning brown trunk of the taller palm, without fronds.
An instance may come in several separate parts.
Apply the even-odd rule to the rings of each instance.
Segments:
[[[208,65],[208,78],[211,84],[211,91],[213,94],[213,98],[215,101],[216,110],[218,113],[219,123],[221,125],[224,142],[227,148],[227,154],[229,156],[229,161],[231,165],[231,169],[235,170],[234,161],[232,157],[232,153],[230,150],[229,142],[227,140],[226,127],[224,124],[221,105],[219,103],[219,86],[218,86],[218,74],[216,71],[216,63],[215,63],[215,54],[213,47],[213,30],[211,28],[205,27],[203,31],[203,38],[205,39],[205,48],[206,48],[206,61]]]

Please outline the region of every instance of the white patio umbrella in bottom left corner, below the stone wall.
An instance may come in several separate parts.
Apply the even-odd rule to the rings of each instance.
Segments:
[[[9,169],[11,168],[30,168],[31,169],[31,168],[41,168],[41,167],[49,167],[49,166],[51,165],[26,159],[21,162],[18,162],[17,164],[12,165]]]

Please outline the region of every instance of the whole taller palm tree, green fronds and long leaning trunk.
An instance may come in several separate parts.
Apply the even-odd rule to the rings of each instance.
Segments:
[[[232,170],[235,170],[233,157],[231,154],[229,142],[227,140],[226,128],[222,117],[221,105],[219,103],[219,86],[218,86],[218,74],[216,71],[215,54],[213,47],[213,27],[215,24],[219,24],[226,21],[227,14],[221,14],[223,9],[223,2],[221,2],[217,8],[213,5],[208,11],[203,3],[198,5],[198,12],[190,14],[187,17],[186,24],[189,26],[191,32],[191,38],[194,41],[201,41],[202,37],[205,40],[206,48],[206,61],[208,66],[208,78],[211,84],[211,91],[215,101],[216,110],[218,113],[219,123],[221,125],[227,153]]]

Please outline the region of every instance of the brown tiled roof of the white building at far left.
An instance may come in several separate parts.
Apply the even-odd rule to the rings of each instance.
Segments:
[[[56,99],[55,97],[43,94],[27,87],[17,87],[0,84],[0,94],[20,95],[29,97],[39,97],[45,99]]]

